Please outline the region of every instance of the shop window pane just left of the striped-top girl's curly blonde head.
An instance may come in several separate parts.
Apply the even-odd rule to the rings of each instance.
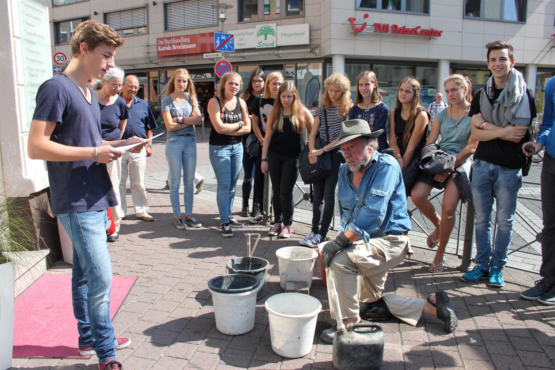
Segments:
[[[322,98],[322,63],[297,63],[296,77],[302,103],[315,111]]]

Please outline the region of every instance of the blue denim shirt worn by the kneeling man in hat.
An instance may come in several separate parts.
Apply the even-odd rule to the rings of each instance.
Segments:
[[[350,230],[367,243],[383,234],[411,230],[401,168],[391,155],[374,151],[359,189],[352,185],[346,163],[339,169],[339,231]]]

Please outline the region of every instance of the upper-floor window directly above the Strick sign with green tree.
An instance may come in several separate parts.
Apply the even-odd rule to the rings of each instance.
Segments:
[[[239,22],[304,16],[304,0],[239,0]]]

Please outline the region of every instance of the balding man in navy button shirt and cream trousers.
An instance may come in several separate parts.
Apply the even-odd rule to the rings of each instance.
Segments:
[[[122,138],[127,139],[132,136],[139,138],[152,138],[152,130],[156,128],[156,120],[148,103],[137,97],[140,85],[139,79],[134,74],[128,74],[123,79],[122,97],[129,108],[129,118],[123,131]],[[131,183],[131,199],[135,216],[144,221],[154,221],[148,211],[147,190],[144,185],[144,175],[147,170],[147,157],[152,155],[152,141],[148,142],[147,148],[140,153],[125,153],[122,156],[122,180],[119,183],[119,194],[122,195],[122,211],[125,216],[127,213],[127,176]]]

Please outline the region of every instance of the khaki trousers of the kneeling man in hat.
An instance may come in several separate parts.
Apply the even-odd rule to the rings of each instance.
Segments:
[[[412,254],[408,236],[382,235],[369,243],[356,241],[339,252],[327,269],[327,295],[331,302],[331,279],[334,279],[342,318],[359,317],[360,302],[376,302],[384,298],[387,308],[400,320],[415,326],[422,315],[424,300],[395,294],[384,296],[387,272]],[[335,320],[335,308],[331,307]]]

